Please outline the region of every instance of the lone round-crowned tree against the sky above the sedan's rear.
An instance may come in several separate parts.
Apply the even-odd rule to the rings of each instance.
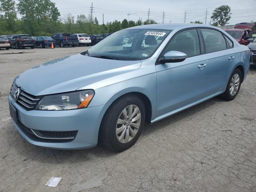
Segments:
[[[231,14],[232,13],[230,13],[230,6],[222,5],[217,7],[213,11],[211,18],[213,19],[213,21],[217,22],[220,26],[224,26],[228,24],[228,21],[231,18]]]

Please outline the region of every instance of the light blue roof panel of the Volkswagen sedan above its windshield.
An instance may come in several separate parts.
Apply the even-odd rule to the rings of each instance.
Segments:
[[[184,24],[184,23],[162,23],[162,24],[149,24],[149,25],[140,25],[131,27],[128,29],[162,29],[162,30],[182,30],[186,28],[193,28],[193,27],[207,27],[207,28],[214,28],[220,30],[218,27],[214,27],[211,25],[204,25],[204,24]]]

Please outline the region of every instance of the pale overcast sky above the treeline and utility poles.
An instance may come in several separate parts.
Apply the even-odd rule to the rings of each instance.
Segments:
[[[230,25],[240,22],[256,22],[256,0],[52,0],[56,3],[61,16],[69,12],[74,16],[79,14],[90,14],[90,6],[93,3],[93,17],[97,17],[100,24],[123,19],[138,20],[142,22],[148,18],[150,8],[150,19],[156,22],[181,23],[184,22],[186,11],[186,23],[200,20],[206,24],[210,23],[212,11],[223,4],[230,6],[232,17]],[[245,3],[246,2],[246,3]]]

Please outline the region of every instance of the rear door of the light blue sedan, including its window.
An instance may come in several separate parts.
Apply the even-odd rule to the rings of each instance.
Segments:
[[[222,32],[209,28],[201,28],[202,39],[207,58],[207,66],[203,70],[203,97],[220,91],[229,78],[234,65],[235,54],[233,42]]]

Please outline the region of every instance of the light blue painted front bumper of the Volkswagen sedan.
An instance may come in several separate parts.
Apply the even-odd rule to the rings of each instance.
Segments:
[[[8,100],[17,111],[19,123],[16,124],[14,120],[12,122],[18,132],[31,144],[56,149],[82,149],[96,146],[101,120],[108,106],[110,106],[110,104],[106,104],[66,111],[27,111],[14,102],[10,95],[8,96]],[[37,131],[77,131],[77,134],[71,142],[52,142],[52,140],[42,142],[29,136],[21,124],[27,129]]]

